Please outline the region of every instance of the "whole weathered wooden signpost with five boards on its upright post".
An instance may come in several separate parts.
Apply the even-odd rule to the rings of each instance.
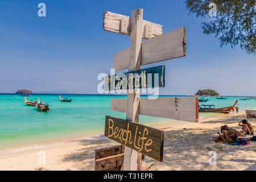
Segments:
[[[163,26],[143,20],[142,9],[133,10],[131,17],[104,13],[104,30],[130,35],[131,38],[131,47],[114,55],[115,71],[128,69],[129,72],[123,74],[126,76],[129,73],[139,75],[143,71],[158,73],[159,84],[152,85],[154,87],[164,87],[164,66],[158,69],[141,69],[141,65],[183,57],[186,54],[185,28],[180,27],[163,34]],[[142,42],[142,38],[148,40]],[[123,169],[126,171],[145,170],[152,165],[142,164],[142,154],[158,161],[163,160],[163,130],[139,125],[139,114],[198,122],[198,98],[140,99],[140,89],[147,81],[147,76],[143,74],[141,78],[126,77],[126,80],[118,75],[110,75],[105,80],[106,90],[129,89],[127,99],[113,98],[111,101],[111,109],[126,112],[126,120],[106,116],[105,123],[105,136],[125,146]],[[120,159],[120,156],[114,155],[112,158]],[[109,161],[106,160],[106,163],[109,164]],[[114,165],[112,162],[112,167]]]

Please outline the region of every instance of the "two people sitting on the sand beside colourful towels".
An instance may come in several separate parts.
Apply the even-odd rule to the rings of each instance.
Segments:
[[[215,138],[217,142],[223,141],[223,142],[234,142],[238,137],[245,137],[246,135],[254,135],[254,129],[253,125],[247,121],[247,119],[243,119],[238,123],[238,126],[242,126],[242,130],[238,131],[237,129],[233,129],[231,127],[228,127],[226,125],[221,126],[221,133],[218,133],[218,137]]]

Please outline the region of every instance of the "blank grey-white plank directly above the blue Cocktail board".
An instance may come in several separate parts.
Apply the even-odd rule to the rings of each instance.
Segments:
[[[141,65],[183,57],[186,55],[185,27],[167,32],[156,38],[145,40],[141,47]],[[119,71],[129,67],[130,48],[114,55],[114,69]]]

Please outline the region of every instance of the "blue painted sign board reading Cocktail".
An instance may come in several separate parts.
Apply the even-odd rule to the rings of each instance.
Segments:
[[[164,76],[164,66],[119,73],[117,75],[109,75],[105,78],[105,90],[164,87]],[[157,83],[155,83],[155,77],[158,78]]]

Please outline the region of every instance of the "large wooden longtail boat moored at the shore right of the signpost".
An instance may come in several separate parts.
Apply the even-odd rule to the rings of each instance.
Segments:
[[[235,105],[237,104],[238,100],[235,102],[233,106],[229,107],[221,107],[215,108],[215,105],[200,105],[199,112],[207,112],[207,113],[224,113],[228,114],[231,110],[235,110]]]

